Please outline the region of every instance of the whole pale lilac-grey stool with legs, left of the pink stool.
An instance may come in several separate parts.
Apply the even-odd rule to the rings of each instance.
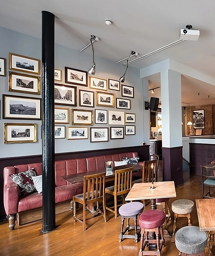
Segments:
[[[134,238],[135,242],[138,241],[138,234],[140,233],[140,227],[137,227],[137,216],[144,209],[144,205],[140,202],[131,202],[123,204],[119,207],[118,212],[121,215],[121,232],[118,236],[119,242],[121,242],[122,238]],[[127,218],[127,225],[123,230],[124,219]],[[129,225],[129,219],[133,218],[134,226]],[[135,229],[135,234],[125,234],[125,232],[129,231],[129,229]],[[139,229],[137,231],[137,229]]]

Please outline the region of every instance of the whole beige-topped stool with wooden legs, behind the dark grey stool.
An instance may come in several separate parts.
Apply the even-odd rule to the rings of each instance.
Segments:
[[[171,241],[174,242],[174,233],[176,229],[177,217],[187,217],[188,226],[191,226],[190,212],[192,211],[194,203],[188,199],[178,199],[172,202],[171,209],[174,212],[174,222],[173,222],[173,233],[171,236]]]

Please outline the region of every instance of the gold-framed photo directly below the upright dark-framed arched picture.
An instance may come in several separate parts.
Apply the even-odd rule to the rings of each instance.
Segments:
[[[93,110],[71,109],[71,124],[93,125]]]

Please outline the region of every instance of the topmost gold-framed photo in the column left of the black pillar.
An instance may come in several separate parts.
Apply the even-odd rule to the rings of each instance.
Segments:
[[[9,69],[39,75],[40,60],[9,53]]]

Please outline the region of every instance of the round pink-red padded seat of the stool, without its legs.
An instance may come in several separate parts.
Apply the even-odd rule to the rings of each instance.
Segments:
[[[161,210],[148,210],[139,215],[139,226],[142,228],[155,228],[165,221],[165,214]]]

